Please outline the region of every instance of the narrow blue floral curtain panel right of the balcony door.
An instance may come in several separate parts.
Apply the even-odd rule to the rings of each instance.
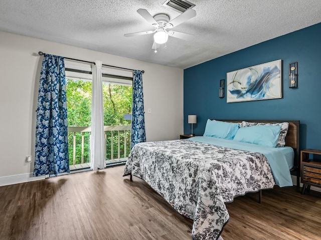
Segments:
[[[140,70],[134,70],[131,111],[131,148],[138,142],[146,141],[141,75]]]

